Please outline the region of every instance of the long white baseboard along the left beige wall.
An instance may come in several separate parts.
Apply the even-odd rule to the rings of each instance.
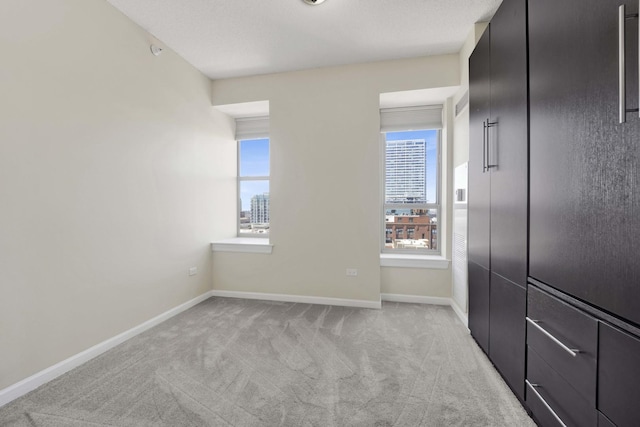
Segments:
[[[93,347],[81,353],[71,356],[70,358],[63,360],[62,362],[59,362],[53,366],[50,366],[47,369],[44,369],[28,378],[25,378],[20,382],[17,382],[5,389],[0,390],[0,407],[19,398],[20,396],[23,396],[29,393],[32,390],[35,390],[41,385],[59,377],[60,375],[70,371],[71,369],[76,368],[85,362],[88,362],[89,360],[101,355],[107,350],[112,349],[118,344],[121,344],[126,340],[135,337],[138,334],[141,334],[147,329],[150,329],[164,322],[165,320],[179,313],[182,313],[185,310],[188,310],[189,308],[193,307],[196,304],[201,303],[202,301],[210,298],[211,296],[212,296],[211,291],[206,292],[200,295],[199,297],[196,297],[190,301],[187,301],[184,304],[181,304],[175,308],[172,308],[169,311],[166,311],[154,317],[153,319],[147,320],[146,322],[129,329],[128,331],[125,331],[119,335],[116,335],[115,337],[109,338],[108,340],[103,341],[99,344],[96,344]]]

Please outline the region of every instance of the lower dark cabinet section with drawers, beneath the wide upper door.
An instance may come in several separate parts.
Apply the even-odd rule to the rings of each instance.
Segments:
[[[640,330],[546,285],[530,284],[527,304],[526,406],[538,424],[640,425]]]

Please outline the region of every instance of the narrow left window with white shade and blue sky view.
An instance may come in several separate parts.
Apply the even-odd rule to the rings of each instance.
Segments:
[[[268,118],[236,120],[236,137],[240,137],[238,139],[239,237],[269,235],[270,141],[268,137],[255,137],[268,135],[268,123]]]

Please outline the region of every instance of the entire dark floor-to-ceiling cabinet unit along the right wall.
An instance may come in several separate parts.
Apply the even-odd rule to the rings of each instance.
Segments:
[[[469,62],[469,328],[541,426],[640,425],[638,7],[505,0]]]

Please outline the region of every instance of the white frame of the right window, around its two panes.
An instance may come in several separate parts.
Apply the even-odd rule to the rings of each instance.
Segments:
[[[436,235],[437,249],[406,249],[406,248],[387,248],[386,247],[386,237],[387,237],[387,210],[390,209],[422,209],[422,210],[435,210],[436,211],[436,230],[440,228],[441,224],[441,215],[442,215],[442,129],[441,128],[426,128],[426,129],[405,129],[405,130],[394,130],[390,132],[409,132],[409,131],[435,131],[437,133],[437,172],[436,172],[436,201],[437,203],[386,203],[386,185],[387,185],[387,138],[386,134],[388,132],[380,132],[380,147],[381,147],[381,167],[382,173],[381,178],[381,206],[382,206],[382,221],[381,221],[381,232],[380,232],[380,253],[382,254],[407,254],[407,255],[441,255],[441,242],[440,242],[440,233]],[[426,152],[425,152],[425,162],[426,162]],[[426,182],[425,182],[426,185]],[[409,223],[408,223],[409,224]],[[407,224],[407,225],[408,225]],[[412,227],[417,227],[419,224],[416,222],[410,222]],[[393,235],[394,233],[391,233]],[[403,233],[404,234],[404,233]],[[408,232],[407,232],[408,234]]]

